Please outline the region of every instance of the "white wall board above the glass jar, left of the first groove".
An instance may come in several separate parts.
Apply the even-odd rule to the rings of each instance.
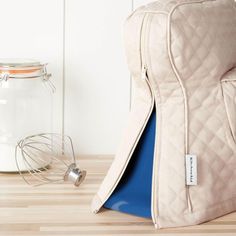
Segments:
[[[63,0],[0,0],[0,7],[0,58],[36,58],[50,63],[57,88],[54,130],[61,132]]]

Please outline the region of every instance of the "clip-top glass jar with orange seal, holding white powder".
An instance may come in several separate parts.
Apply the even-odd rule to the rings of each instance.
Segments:
[[[17,142],[27,135],[52,132],[52,93],[46,64],[0,59],[0,172],[18,171]]]

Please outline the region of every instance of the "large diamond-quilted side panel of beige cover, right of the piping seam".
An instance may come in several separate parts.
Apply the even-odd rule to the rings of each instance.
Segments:
[[[172,16],[172,55],[187,90],[189,151],[198,155],[199,184],[190,187],[194,210],[236,195],[236,144],[220,83],[236,62],[235,25],[235,9],[225,0],[183,5]]]

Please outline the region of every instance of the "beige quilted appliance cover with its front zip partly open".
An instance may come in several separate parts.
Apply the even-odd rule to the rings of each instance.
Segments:
[[[157,110],[152,219],[198,224],[236,210],[236,3],[160,0],[125,25],[135,90],[123,142],[94,197],[98,212],[118,184],[153,106]],[[143,76],[142,68],[145,70]],[[198,184],[185,184],[185,155]]]

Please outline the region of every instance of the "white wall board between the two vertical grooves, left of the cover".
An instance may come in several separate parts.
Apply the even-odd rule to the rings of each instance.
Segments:
[[[65,133],[82,153],[114,153],[129,111],[127,0],[66,2]]]

